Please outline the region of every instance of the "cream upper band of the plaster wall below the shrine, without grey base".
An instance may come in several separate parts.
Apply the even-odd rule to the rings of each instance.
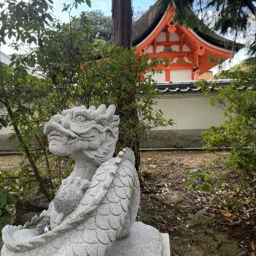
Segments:
[[[211,107],[210,97],[201,93],[162,94],[154,110],[161,109],[165,118],[172,118],[173,127],[157,127],[167,129],[208,129],[211,124],[221,124],[222,109]]]

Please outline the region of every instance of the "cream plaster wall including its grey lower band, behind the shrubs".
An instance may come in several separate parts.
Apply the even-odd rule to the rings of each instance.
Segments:
[[[210,96],[200,92],[160,94],[154,111],[161,109],[165,118],[172,118],[173,126],[154,129],[156,138],[152,138],[143,148],[173,148],[202,146],[200,132],[209,129],[212,124],[218,125],[225,121],[221,108],[212,108]],[[11,128],[0,130],[0,151],[15,151],[17,145],[7,142]]]

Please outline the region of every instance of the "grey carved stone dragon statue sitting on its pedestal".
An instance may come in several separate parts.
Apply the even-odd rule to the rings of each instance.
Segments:
[[[2,231],[1,256],[162,256],[161,234],[136,222],[140,184],[129,148],[113,157],[119,117],[108,109],[75,107],[46,124],[53,154],[71,156],[75,169],[47,211]]]

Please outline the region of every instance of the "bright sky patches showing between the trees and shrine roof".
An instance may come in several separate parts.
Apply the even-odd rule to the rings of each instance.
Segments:
[[[74,10],[72,12],[72,15],[79,15],[81,11],[86,12],[91,10],[101,10],[105,15],[111,15],[111,2],[112,0],[91,0],[91,8],[89,8],[86,4],[81,4],[78,7],[78,10]],[[148,8],[152,4],[154,4],[154,2],[155,0],[132,0],[133,10],[134,12],[148,10]],[[56,16],[56,18],[60,18],[64,22],[68,22],[69,18],[67,12],[62,12],[62,7],[64,3],[71,4],[72,0],[54,0],[53,14]],[[7,45],[2,46],[1,51],[7,54],[14,53],[14,50],[12,50],[12,48],[8,47]],[[236,53],[233,59],[225,61],[225,63],[222,64],[222,66],[224,69],[228,69],[246,58],[246,50],[240,50],[239,53]],[[215,75],[217,72],[219,72],[219,68],[215,67],[212,71],[214,72]]]

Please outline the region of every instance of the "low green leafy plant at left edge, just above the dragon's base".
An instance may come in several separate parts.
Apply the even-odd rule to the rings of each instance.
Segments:
[[[7,206],[17,203],[18,198],[9,192],[7,188],[0,188],[0,235],[2,228],[10,224],[12,215],[7,210]]]

